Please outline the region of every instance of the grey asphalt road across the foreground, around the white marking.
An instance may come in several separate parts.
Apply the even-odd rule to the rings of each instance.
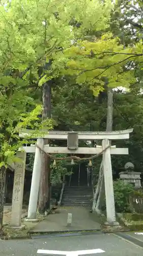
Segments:
[[[1,256],[44,256],[38,249],[46,250],[89,250],[102,249],[105,252],[89,256],[142,256],[143,248],[119,238],[115,234],[90,234],[72,237],[48,237],[30,240],[0,240]],[[59,254],[57,254],[58,256]],[[74,256],[74,253],[73,253]]]

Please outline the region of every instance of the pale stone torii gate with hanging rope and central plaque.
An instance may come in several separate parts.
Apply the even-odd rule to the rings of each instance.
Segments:
[[[19,137],[31,137],[37,139],[37,145],[44,150],[46,153],[50,154],[101,154],[103,152],[103,170],[104,170],[104,183],[105,183],[105,196],[106,196],[106,214],[107,223],[109,225],[117,225],[116,222],[116,212],[115,212],[115,200],[113,194],[113,180],[112,180],[112,167],[111,167],[111,156],[113,155],[128,155],[128,148],[116,148],[116,146],[109,147],[109,140],[118,139],[129,139],[129,134],[133,129],[123,130],[123,131],[113,131],[113,132],[64,132],[64,131],[49,131],[47,134],[44,132],[43,136],[34,136],[34,131],[26,130],[19,134]],[[43,139],[49,140],[67,140],[67,147],[52,147],[49,145],[44,145]],[[78,140],[102,140],[102,147],[78,147]],[[28,215],[27,221],[36,220],[39,185],[41,177],[41,160],[42,154],[40,148],[31,145],[23,146],[22,148],[26,153],[35,153],[32,184],[30,201],[28,205]],[[24,160],[25,161],[25,160]],[[12,200],[12,226],[15,220],[15,208],[18,207],[17,202],[14,201],[15,184],[13,187],[13,200]],[[16,192],[17,193],[17,192]],[[20,192],[19,192],[20,193]],[[22,194],[23,195],[23,191]],[[22,200],[22,198],[20,199]],[[21,207],[21,202],[19,202],[19,207]],[[19,212],[19,211],[17,211]],[[18,218],[20,219],[20,218]]]

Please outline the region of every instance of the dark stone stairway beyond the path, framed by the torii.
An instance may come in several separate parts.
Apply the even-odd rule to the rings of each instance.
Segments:
[[[92,187],[66,186],[63,193],[62,205],[64,206],[91,206]]]

